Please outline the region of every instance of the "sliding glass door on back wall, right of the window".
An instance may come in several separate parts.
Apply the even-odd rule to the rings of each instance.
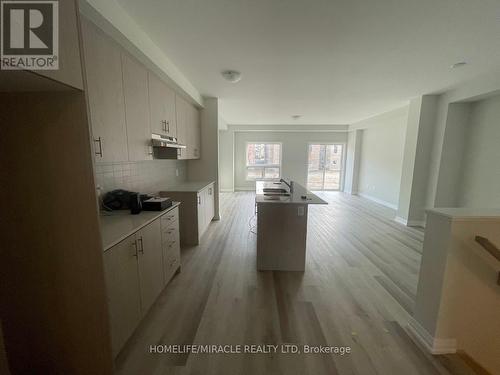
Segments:
[[[343,145],[310,144],[307,188],[309,190],[340,190]]]

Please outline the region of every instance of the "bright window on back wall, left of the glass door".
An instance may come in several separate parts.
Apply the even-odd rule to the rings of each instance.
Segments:
[[[247,180],[281,177],[281,143],[247,143]]]

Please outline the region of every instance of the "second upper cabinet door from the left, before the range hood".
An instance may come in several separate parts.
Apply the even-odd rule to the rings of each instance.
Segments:
[[[125,52],[122,52],[122,69],[128,158],[131,161],[152,160],[148,71]]]

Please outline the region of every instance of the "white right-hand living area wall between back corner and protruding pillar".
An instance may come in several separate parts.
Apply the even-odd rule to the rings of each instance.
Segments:
[[[352,125],[364,129],[358,193],[397,208],[408,106]]]

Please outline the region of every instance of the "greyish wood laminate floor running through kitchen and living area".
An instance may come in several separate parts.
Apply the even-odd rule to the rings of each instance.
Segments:
[[[221,195],[222,220],[183,249],[182,272],[117,358],[120,375],[471,374],[405,331],[423,232],[362,198],[311,206],[304,273],[257,272],[253,193]],[[348,346],[350,354],[155,354],[150,345]]]

